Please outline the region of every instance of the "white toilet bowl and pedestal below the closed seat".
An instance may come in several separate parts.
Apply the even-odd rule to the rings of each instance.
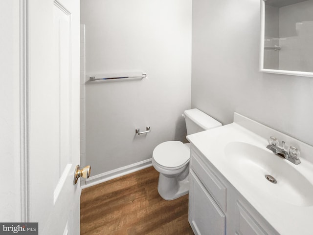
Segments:
[[[187,168],[187,176],[179,180],[179,177],[173,177],[159,174],[157,192],[160,196],[167,201],[179,198],[189,192],[189,168]]]

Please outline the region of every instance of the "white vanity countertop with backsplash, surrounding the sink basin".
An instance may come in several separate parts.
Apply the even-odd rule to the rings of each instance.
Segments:
[[[277,179],[277,185],[274,185],[268,182],[264,175],[262,179],[261,177],[255,177],[255,175],[253,175],[255,179],[249,178],[251,175],[245,175],[248,171],[238,169],[238,164],[234,164],[234,159],[230,161],[225,151],[227,144],[230,142],[243,142],[271,153],[270,150],[266,149],[268,134],[283,137],[284,139],[281,140],[287,139],[286,144],[287,141],[291,142],[290,144],[297,146],[301,150],[301,154],[304,154],[303,157],[300,157],[301,163],[294,165],[275,154],[273,154],[273,158],[277,158],[277,161],[286,161],[287,164],[290,164],[287,169],[294,168],[300,172],[305,177],[306,184],[304,186],[312,186],[312,189],[307,187],[306,193],[311,193],[311,190],[313,190],[313,164],[310,157],[313,157],[313,154],[311,156],[305,155],[313,153],[313,147],[290,136],[286,137],[285,134],[256,123],[240,114],[235,113],[234,120],[234,123],[220,128],[188,135],[187,139],[201,151],[207,160],[224,175],[279,234],[313,235],[313,194],[310,194],[312,200],[307,197],[303,202],[301,197],[288,193],[288,190],[283,197],[273,195],[271,187],[277,187],[280,182],[279,179]],[[247,127],[254,132],[247,129]],[[268,137],[265,138],[267,135]],[[286,162],[282,162],[282,164]],[[297,183],[301,186],[301,182]],[[278,187],[280,186],[278,185]]]

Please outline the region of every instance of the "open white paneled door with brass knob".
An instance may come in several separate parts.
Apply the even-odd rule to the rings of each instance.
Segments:
[[[26,3],[27,221],[79,235],[79,0]]]

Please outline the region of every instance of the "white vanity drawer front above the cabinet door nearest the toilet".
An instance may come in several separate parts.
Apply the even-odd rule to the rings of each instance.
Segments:
[[[191,151],[190,168],[195,171],[207,191],[211,193],[221,209],[226,212],[227,188],[193,150]]]

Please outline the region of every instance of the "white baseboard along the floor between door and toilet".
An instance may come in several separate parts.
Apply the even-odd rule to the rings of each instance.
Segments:
[[[108,180],[129,174],[135,171],[139,171],[147,167],[151,167],[151,166],[152,166],[152,159],[150,158],[141,162],[136,162],[134,164],[131,164],[125,167],[114,169],[112,171],[107,171],[101,174],[97,174],[97,175],[91,176],[89,179],[82,181],[81,188],[85,189],[85,188],[94,186],[96,184],[100,184]]]

